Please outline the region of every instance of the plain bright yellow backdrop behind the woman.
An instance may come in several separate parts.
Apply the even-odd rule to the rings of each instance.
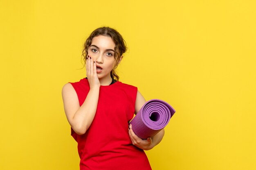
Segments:
[[[120,81],[176,113],[153,170],[256,169],[256,2],[0,1],[0,169],[79,169],[61,89],[85,77],[85,39],[123,35]]]

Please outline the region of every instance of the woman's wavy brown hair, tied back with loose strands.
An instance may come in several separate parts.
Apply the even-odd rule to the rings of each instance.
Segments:
[[[110,72],[110,76],[111,76],[111,78],[114,78],[115,80],[118,81],[119,76],[115,72],[115,69],[118,66],[118,61],[119,61],[120,57],[126,52],[127,47],[126,47],[126,42],[124,41],[123,37],[115,29],[104,26],[104,27],[100,27],[100,28],[97,28],[96,30],[94,30],[91,33],[91,35],[86,39],[86,41],[83,45],[83,54],[82,54],[83,61],[84,61],[84,63],[86,62],[86,57],[88,55],[88,48],[92,44],[93,37],[97,37],[99,35],[111,37],[115,43],[115,53],[114,53],[115,64],[114,64],[114,68]],[[85,66],[85,64],[83,65],[83,68],[84,68],[84,66]]]

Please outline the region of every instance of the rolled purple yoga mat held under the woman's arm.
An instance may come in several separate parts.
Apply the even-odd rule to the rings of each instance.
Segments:
[[[132,131],[141,139],[152,137],[164,129],[174,113],[175,110],[167,102],[148,100],[130,121]]]

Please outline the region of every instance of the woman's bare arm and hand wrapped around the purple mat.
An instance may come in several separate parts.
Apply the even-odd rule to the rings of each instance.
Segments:
[[[138,111],[141,109],[141,107],[145,103],[146,103],[145,98],[138,91],[136,101],[135,101],[135,114],[138,113]],[[150,150],[161,142],[161,140],[164,137],[164,129],[159,131],[154,136],[148,137],[148,139],[141,139],[137,135],[135,135],[135,133],[132,131],[132,124],[131,124],[130,129],[129,129],[129,135],[132,140],[132,144],[134,144],[135,146],[137,146],[138,148],[141,148],[143,150]]]

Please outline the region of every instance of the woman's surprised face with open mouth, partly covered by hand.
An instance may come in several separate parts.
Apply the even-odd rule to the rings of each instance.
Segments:
[[[111,37],[99,35],[92,38],[88,55],[96,62],[98,78],[110,77],[115,64],[115,43]]]

